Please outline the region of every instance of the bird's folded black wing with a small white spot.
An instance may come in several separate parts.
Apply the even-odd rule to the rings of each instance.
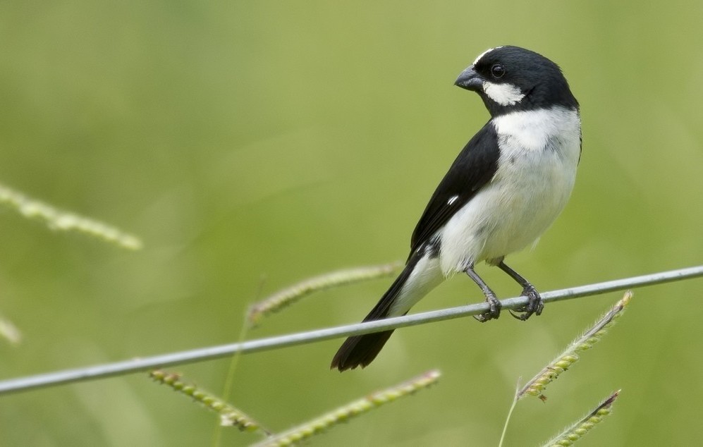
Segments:
[[[489,121],[466,143],[434,191],[412,232],[410,255],[491,181],[499,156],[498,134]]]

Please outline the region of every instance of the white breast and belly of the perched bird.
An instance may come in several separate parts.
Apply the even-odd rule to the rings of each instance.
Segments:
[[[494,119],[501,156],[491,182],[440,230],[445,275],[533,243],[566,205],[580,156],[577,111],[554,107]]]

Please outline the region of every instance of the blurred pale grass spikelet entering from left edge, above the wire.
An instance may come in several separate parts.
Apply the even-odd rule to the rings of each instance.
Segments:
[[[4,185],[0,185],[0,204],[16,209],[27,219],[42,221],[55,231],[83,233],[128,250],[140,250],[142,248],[142,241],[136,236],[124,233],[114,226],[102,222],[61,211]]]

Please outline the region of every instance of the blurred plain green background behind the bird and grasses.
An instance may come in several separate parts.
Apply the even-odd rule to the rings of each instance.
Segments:
[[[703,3],[90,1],[0,4],[0,183],[145,241],[140,252],[0,210],[0,378],[236,341],[257,297],[405,259],[436,183],[487,120],[453,87],[499,44],[561,65],[582,106],[573,197],[511,266],[553,290],[702,262]],[[503,297],[519,292],[479,267]],[[390,279],[311,296],[247,338],[359,321]],[[622,388],[585,446],[703,437],[703,282],[635,291],[628,314],[506,445]],[[312,445],[496,445],[515,382],[621,293],[398,331],[339,374],[339,341],[243,357],[232,401],[282,430],[426,371],[438,386]],[[413,312],[482,300],[456,277]],[[175,368],[219,392],[229,360]],[[3,445],[205,445],[215,417],[145,374],[0,398]],[[229,445],[257,441],[235,429]]]

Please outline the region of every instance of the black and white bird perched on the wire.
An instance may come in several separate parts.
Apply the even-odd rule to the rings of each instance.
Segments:
[[[520,47],[480,54],[455,85],[479,94],[491,119],[459,153],[424,209],[410,240],[405,269],[364,319],[408,313],[453,274],[467,274],[498,318],[501,304],[475,265],[485,261],[522,286],[525,320],[544,304],[537,290],[506,265],[506,255],[539,239],[561,213],[573,189],[581,154],[579,105],[556,63]],[[331,367],[365,367],[393,331],[347,338]]]

